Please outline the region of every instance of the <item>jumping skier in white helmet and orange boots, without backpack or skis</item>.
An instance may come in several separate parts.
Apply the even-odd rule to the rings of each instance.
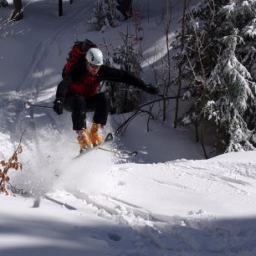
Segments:
[[[54,100],[54,111],[58,115],[63,114],[64,109],[72,112],[80,152],[103,142],[100,132],[106,125],[110,100],[107,93],[98,90],[100,82],[105,80],[131,84],[151,95],[158,93],[155,86],[145,84],[135,75],[106,66],[100,49],[90,48],[84,61],[59,83]],[[86,127],[86,110],[95,111],[90,132]]]

